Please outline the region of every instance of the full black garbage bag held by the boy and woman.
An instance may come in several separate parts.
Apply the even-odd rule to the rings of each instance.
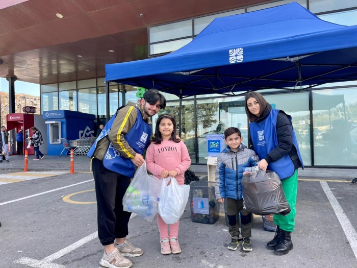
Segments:
[[[246,210],[258,215],[287,215],[290,206],[285,198],[282,182],[275,172],[260,169],[243,175],[243,199]]]

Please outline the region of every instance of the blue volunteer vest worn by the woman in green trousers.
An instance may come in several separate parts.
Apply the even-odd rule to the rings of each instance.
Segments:
[[[260,159],[264,159],[267,154],[278,145],[276,135],[276,119],[278,113],[279,110],[272,109],[267,118],[265,118],[263,121],[259,123],[252,122],[249,124],[250,138],[253,143],[254,151],[256,151]],[[299,147],[297,146],[295,131],[291,123],[291,116],[288,114],[287,116],[290,120],[293,145],[296,148],[297,155],[303,168],[302,158],[300,156]],[[268,164],[267,169],[275,172],[280,179],[289,178],[295,172],[294,164],[289,155],[285,155],[281,159]]]

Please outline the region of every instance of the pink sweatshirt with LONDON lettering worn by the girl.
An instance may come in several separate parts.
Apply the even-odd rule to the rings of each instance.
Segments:
[[[191,165],[186,144],[181,140],[162,140],[160,144],[151,142],[145,155],[146,167],[156,178],[161,179],[162,170],[175,169],[179,175],[176,176],[177,183],[185,183],[185,171]]]

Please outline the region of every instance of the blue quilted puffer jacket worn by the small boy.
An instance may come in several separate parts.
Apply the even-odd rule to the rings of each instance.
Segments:
[[[226,147],[218,156],[216,167],[216,199],[232,198],[240,200],[242,194],[242,178],[244,168],[256,166],[259,157],[253,150],[240,144],[238,152]]]

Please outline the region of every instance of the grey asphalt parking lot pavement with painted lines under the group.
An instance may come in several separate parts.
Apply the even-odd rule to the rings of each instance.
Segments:
[[[10,156],[0,163],[0,268],[100,267],[103,247],[97,238],[96,203],[90,159]],[[207,166],[192,165],[201,180]],[[227,249],[230,242],[224,208],[215,224],[194,223],[189,204],[180,220],[182,253],[164,256],[156,219],[133,216],[127,239],[144,249],[130,258],[133,267],[357,267],[357,169],[299,170],[294,249],[276,256],[265,248],[274,233],[254,217],[252,252]],[[190,203],[190,202],[189,202]]]

